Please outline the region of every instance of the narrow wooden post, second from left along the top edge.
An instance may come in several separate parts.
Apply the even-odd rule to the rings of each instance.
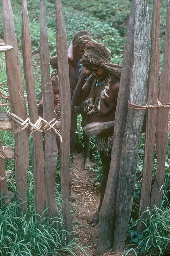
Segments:
[[[35,87],[31,61],[31,36],[26,0],[22,0],[22,58],[26,93],[30,120],[34,124],[38,120]],[[36,213],[41,215],[45,210],[45,178],[42,133],[33,135],[33,167],[34,167],[34,198]]]

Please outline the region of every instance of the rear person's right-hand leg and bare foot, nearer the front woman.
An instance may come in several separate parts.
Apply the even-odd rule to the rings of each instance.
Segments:
[[[86,119],[86,113],[84,111],[81,112],[81,126],[82,128],[85,125],[85,119]],[[84,162],[84,169],[87,170],[92,165],[92,162],[90,161],[90,137],[84,132],[83,130],[83,140],[85,142],[85,162]]]

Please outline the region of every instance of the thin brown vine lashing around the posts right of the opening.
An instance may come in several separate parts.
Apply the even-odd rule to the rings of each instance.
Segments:
[[[170,108],[170,101],[169,103],[161,103],[159,100],[157,101],[157,104],[154,105],[149,105],[148,102],[146,102],[145,106],[141,106],[141,105],[137,105],[134,103],[131,103],[128,100],[128,108],[130,109],[134,109],[134,110],[147,110],[147,109],[151,109],[151,108]]]

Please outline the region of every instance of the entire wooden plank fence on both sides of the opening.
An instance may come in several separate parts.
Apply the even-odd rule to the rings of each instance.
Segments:
[[[2,3],[5,46],[1,47],[1,50],[5,51],[10,107],[11,113],[15,114],[15,116],[10,113],[1,112],[0,130],[13,130],[15,149],[3,147],[0,140],[0,189],[3,188],[3,195],[6,196],[8,191],[5,181],[4,159],[15,157],[16,196],[19,199],[18,203],[22,203],[21,209],[26,212],[27,170],[29,163],[28,135],[31,132],[33,136],[35,209],[41,215],[46,203],[48,215],[52,218],[59,217],[55,199],[55,169],[58,151],[55,140],[56,130],[54,125],[56,123],[53,114],[53,92],[49,69],[50,55],[45,0],[41,0],[40,18],[41,81],[44,101],[43,119],[39,119],[36,108],[31,62],[31,38],[26,0],[22,1],[22,55],[29,118],[27,118],[26,114],[26,101],[22,85],[21,65],[18,57],[11,3],[10,0],[2,0]],[[161,203],[162,186],[165,177],[167,123],[170,107],[170,0],[167,3],[164,59],[158,96],[160,0],[153,1],[152,49],[148,76],[149,17],[147,0],[132,1],[123,57],[121,86],[116,108],[111,166],[100,211],[97,254],[107,252],[111,248],[114,252],[123,251],[124,248],[133,203],[137,147],[144,118],[144,110],[146,110],[147,114],[147,123],[139,218],[147,209],[147,206],[152,206],[153,204],[159,206]],[[69,67],[61,0],[55,0],[55,10],[58,73],[59,83],[62,84],[62,87],[60,86],[61,132],[63,138],[60,144],[62,208],[65,228],[68,231],[72,231],[69,208]],[[140,36],[138,36],[139,34]],[[4,97],[3,93],[1,95]],[[128,100],[136,105],[129,104],[128,108]],[[146,102],[148,102],[150,107],[148,107],[148,104],[145,105]],[[144,107],[141,108],[141,105]],[[17,119],[17,117],[20,119]],[[45,131],[44,152],[42,141],[43,131]],[[155,139],[158,167],[151,192]],[[61,228],[60,225],[58,228]],[[139,222],[138,231],[141,228],[142,224]],[[70,236],[70,239],[72,239],[72,236]]]

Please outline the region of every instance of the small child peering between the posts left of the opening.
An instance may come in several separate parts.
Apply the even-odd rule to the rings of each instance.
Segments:
[[[58,74],[57,71],[52,72],[51,74],[51,83],[53,87],[53,93],[54,93],[54,113],[56,120],[60,120],[60,102],[59,102],[59,84],[58,84]],[[39,106],[38,106],[38,115],[40,117],[43,117],[43,99],[39,100]],[[55,127],[58,131],[60,131],[61,123],[57,124],[57,127]],[[60,152],[60,137],[56,134],[56,141],[57,141],[57,147],[58,151]],[[71,195],[71,199],[77,199],[77,195],[73,192],[73,189],[71,187],[71,177],[70,177],[70,185],[69,185],[69,193]]]

